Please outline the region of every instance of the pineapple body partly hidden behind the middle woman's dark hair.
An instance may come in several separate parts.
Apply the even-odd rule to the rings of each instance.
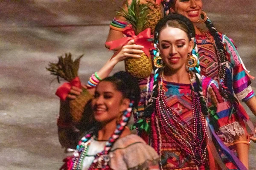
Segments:
[[[153,9],[147,9],[146,24],[143,29],[150,28],[151,34],[154,34],[154,29],[158,21],[163,17],[161,6],[153,6]]]

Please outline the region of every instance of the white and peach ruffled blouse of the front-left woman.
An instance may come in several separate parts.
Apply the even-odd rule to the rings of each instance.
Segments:
[[[64,159],[65,164],[61,170],[88,170],[96,155],[100,153],[107,141],[98,141],[93,136],[83,147],[86,152],[75,151],[73,157],[77,158],[77,166],[74,168],[73,157]],[[149,167],[157,165],[159,156],[154,149],[148,146],[139,136],[130,134],[118,139],[108,154],[111,170],[148,170]],[[105,156],[105,158],[107,158]],[[95,168],[96,169],[96,168]]]

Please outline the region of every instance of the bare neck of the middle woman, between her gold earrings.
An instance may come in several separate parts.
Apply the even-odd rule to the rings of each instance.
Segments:
[[[181,84],[189,84],[189,73],[184,69],[179,69],[178,71],[169,70],[167,67],[164,69],[163,72],[164,80],[167,82],[175,82]]]

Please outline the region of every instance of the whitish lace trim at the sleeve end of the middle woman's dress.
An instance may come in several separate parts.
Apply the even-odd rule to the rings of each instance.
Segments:
[[[219,128],[219,137],[224,139],[224,142],[233,143],[234,137],[245,134],[243,127],[239,122],[233,122]]]

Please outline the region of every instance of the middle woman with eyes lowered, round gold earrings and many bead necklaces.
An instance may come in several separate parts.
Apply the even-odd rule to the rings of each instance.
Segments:
[[[160,169],[246,170],[248,142],[237,116],[241,110],[233,111],[216,81],[201,77],[190,20],[165,16],[154,37],[154,75],[140,82],[143,91],[134,126],[159,154]],[[234,144],[244,164],[224,143]]]

